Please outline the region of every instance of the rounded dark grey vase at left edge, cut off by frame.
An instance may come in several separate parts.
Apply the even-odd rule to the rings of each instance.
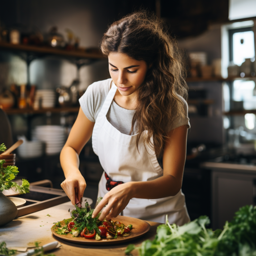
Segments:
[[[17,212],[16,205],[0,192],[0,226],[11,222],[16,217]]]

